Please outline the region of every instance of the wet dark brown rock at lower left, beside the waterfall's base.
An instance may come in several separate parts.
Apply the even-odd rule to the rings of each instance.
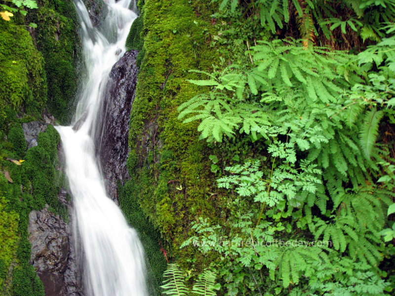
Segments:
[[[45,296],[82,296],[76,276],[74,245],[70,224],[48,211],[32,211],[29,216],[31,263],[44,284]]]

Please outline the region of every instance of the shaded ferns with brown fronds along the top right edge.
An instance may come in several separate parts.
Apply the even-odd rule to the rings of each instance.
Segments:
[[[219,10],[225,16],[236,16],[240,11],[242,16],[250,13],[249,18],[258,15],[255,18],[260,20],[261,28],[270,30],[272,34],[278,34],[278,30],[286,26],[296,26],[298,37],[311,43],[322,33],[324,37],[331,38],[337,32],[346,35],[350,29],[363,41],[380,41],[385,36],[381,30],[382,24],[393,22],[395,18],[395,3],[392,0],[256,0],[248,5],[237,0],[212,2],[220,2]],[[290,11],[295,11],[295,18],[290,17]]]

